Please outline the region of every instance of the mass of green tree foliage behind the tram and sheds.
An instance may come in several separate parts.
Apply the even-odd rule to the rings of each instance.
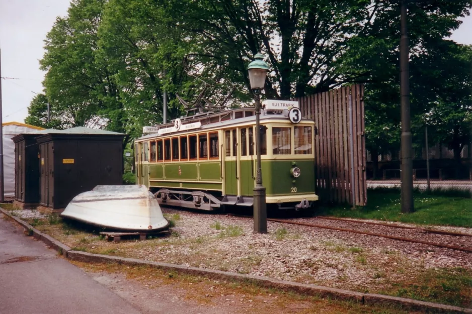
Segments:
[[[469,48],[443,38],[470,7],[471,0],[408,7],[414,127],[428,117],[436,141],[459,148],[469,140]],[[216,101],[235,88],[233,105],[250,101],[246,69],[262,52],[272,68],[270,98],[365,83],[366,144],[387,151],[400,142],[399,42],[397,0],[73,0],[48,33],[41,68],[60,127],[138,136],[162,122],[165,89],[170,118],[183,112],[176,93],[191,101],[207,88]],[[452,111],[458,116],[445,114]],[[44,98],[33,100],[27,119],[44,125]]]

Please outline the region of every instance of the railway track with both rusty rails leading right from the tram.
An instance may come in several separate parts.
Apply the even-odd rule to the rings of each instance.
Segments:
[[[243,215],[235,215],[235,214],[229,214],[229,215],[233,216],[233,217],[252,218],[251,216],[243,216]],[[355,223],[355,224],[361,224],[361,225],[362,224],[367,224],[367,225],[377,225],[377,226],[382,226],[382,227],[409,229],[409,230],[414,230],[414,231],[422,232],[422,233],[432,233],[432,234],[440,234],[440,235],[446,235],[446,236],[467,237],[467,238],[472,237],[472,235],[468,235],[468,234],[452,233],[452,232],[445,232],[445,231],[443,232],[443,231],[439,231],[439,230],[432,230],[432,229],[425,229],[425,228],[398,226],[398,225],[372,223],[372,222],[360,222],[360,221],[356,221],[356,220],[336,219],[336,218],[331,218],[331,217],[330,218],[320,217],[320,219],[342,221],[342,222]],[[330,229],[330,230],[336,230],[336,231],[350,232],[350,233],[356,233],[356,234],[362,234],[362,235],[368,235],[368,236],[374,236],[374,237],[381,237],[381,238],[398,240],[398,241],[405,241],[405,242],[411,242],[411,243],[419,243],[419,244],[425,244],[425,245],[430,245],[430,246],[435,246],[435,247],[440,247],[440,248],[447,248],[447,249],[451,249],[451,250],[457,250],[457,251],[472,253],[472,247],[460,247],[460,246],[455,246],[455,245],[434,243],[434,242],[429,242],[429,241],[423,241],[423,240],[411,239],[411,238],[404,238],[404,237],[392,236],[392,235],[387,235],[387,234],[379,234],[379,233],[373,233],[373,232],[367,232],[367,231],[361,231],[361,230],[355,230],[355,229],[346,229],[346,228],[340,228],[340,227],[326,226],[326,225],[321,225],[321,224],[311,224],[311,223],[297,222],[297,221],[284,220],[284,219],[268,218],[267,221],[275,222],[275,223],[290,224],[290,225],[305,226],[305,227],[313,227],[313,228],[321,228],[321,229]],[[470,240],[469,243],[472,243],[472,240]]]

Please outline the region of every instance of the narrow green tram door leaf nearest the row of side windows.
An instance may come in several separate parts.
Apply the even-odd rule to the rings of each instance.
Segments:
[[[238,167],[238,130],[224,131],[224,193],[240,195]]]

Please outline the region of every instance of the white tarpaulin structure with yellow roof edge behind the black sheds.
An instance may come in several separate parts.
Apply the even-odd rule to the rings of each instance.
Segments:
[[[7,122],[3,124],[4,142],[4,196],[15,196],[15,143],[12,138],[18,134],[43,130],[35,126],[20,122]]]

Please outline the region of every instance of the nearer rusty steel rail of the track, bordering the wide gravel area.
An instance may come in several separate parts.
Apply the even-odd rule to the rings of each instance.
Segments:
[[[252,218],[251,216],[234,215],[234,214],[228,214],[228,215],[233,216],[233,217]],[[452,245],[438,244],[438,243],[433,243],[433,242],[427,242],[427,241],[421,241],[421,240],[415,240],[415,239],[409,239],[409,238],[402,238],[402,237],[395,237],[395,236],[388,236],[388,235],[382,235],[382,234],[365,232],[365,231],[358,231],[358,230],[344,229],[344,228],[336,228],[336,227],[329,227],[329,226],[323,226],[323,225],[305,224],[305,223],[291,222],[291,221],[287,221],[287,220],[273,219],[273,218],[268,218],[267,221],[274,222],[274,223],[282,223],[282,224],[299,225],[299,226],[305,226],[305,227],[314,227],[314,228],[330,229],[330,230],[336,230],[336,231],[351,232],[351,233],[357,233],[357,234],[361,234],[361,235],[381,237],[381,238],[387,238],[387,239],[399,240],[399,241],[405,241],[405,242],[412,242],[412,243],[420,243],[420,244],[425,244],[425,245],[436,246],[436,247],[439,247],[439,248],[447,248],[447,249],[451,249],[451,250],[457,250],[457,251],[472,253],[472,248],[461,248],[461,247],[452,246]]]

